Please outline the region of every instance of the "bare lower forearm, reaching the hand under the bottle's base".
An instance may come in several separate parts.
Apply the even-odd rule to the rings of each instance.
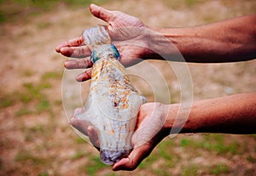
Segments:
[[[170,108],[167,129],[173,127],[179,105]],[[256,133],[256,93],[194,102],[181,133]]]

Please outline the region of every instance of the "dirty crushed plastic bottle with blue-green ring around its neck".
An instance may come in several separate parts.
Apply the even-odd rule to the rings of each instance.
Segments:
[[[132,150],[131,136],[145,98],[138,94],[119,62],[119,51],[111,44],[107,26],[84,30],[82,36],[94,64],[90,93],[83,111],[74,114],[72,125],[85,135],[86,128],[92,126],[98,139],[93,145],[98,145],[102,162],[113,165]]]

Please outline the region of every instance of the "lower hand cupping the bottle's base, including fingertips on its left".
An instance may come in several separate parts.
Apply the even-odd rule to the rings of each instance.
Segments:
[[[169,131],[166,129],[165,122],[168,114],[167,105],[160,103],[147,103],[141,106],[137,116],[137,127],[134,132],[131,143],[133,150],[126,158],[121,159],[113,165],[113,170],[134,170],[154,149],[154,147],[164,139]],[[71,125],[77,128],[81,133],[87,135],[92,145],[99,149],[99,140],[96,129],[83,120],[76,117],[77,113],[81,113],[82,108],[74,111],[71,118]]]

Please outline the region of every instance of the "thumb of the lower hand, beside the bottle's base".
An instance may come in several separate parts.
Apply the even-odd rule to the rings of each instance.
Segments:
[[[134,148],[130,155],[126,158],[121,159],[119,162],[114,163],[113,171],[128,170],[132,171],[146,158],[152,151],[150,145],[141,145]]]

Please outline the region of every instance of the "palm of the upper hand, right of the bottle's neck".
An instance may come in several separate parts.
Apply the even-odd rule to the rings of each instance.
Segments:
[[[131,15],[113,12],[108,24],[113,44],[119,49],[121,63],[131,65],[137,58],[142,58],[146,43],[143,31],[147,31],[143,22]]]

